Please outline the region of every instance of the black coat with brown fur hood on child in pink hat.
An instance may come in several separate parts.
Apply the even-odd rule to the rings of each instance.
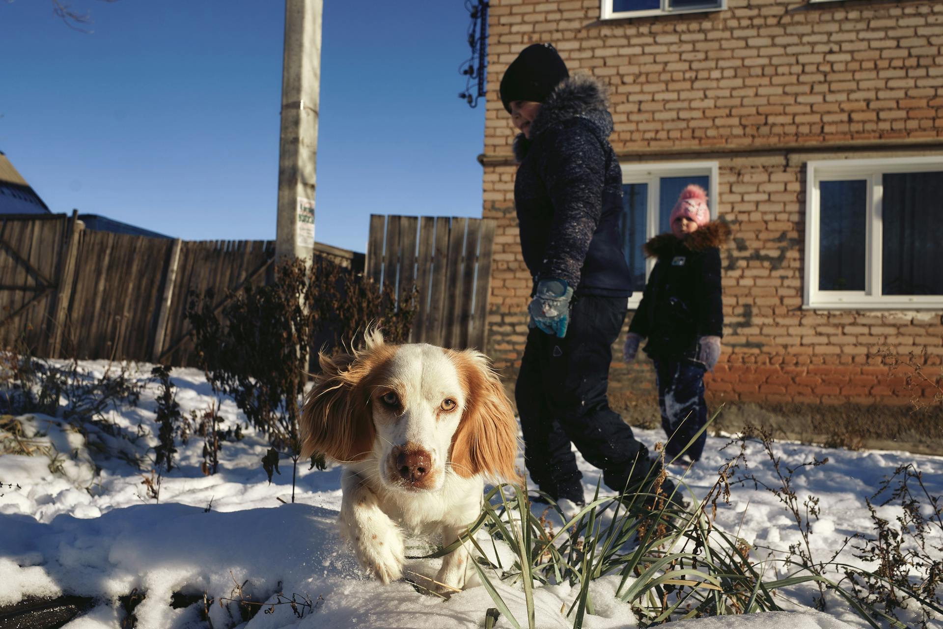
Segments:
[[[648,339],[649,356],[694,357],[698,337],[723,336],[720,247],[729,238],[730,227],[713,221],[684,240],[661,234],[645,244],[657,262],[629,332]]]

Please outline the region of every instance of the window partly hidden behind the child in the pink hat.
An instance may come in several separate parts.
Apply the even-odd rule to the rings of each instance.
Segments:
[[[654,260],[645,258],[642,245],[653,236],[670,231],[668,219],[681,190],[697,184],[707,190],[711,218],[717,218],[717,162],[621,164],[622,251],[633,277],[629,307],[638,306]]]

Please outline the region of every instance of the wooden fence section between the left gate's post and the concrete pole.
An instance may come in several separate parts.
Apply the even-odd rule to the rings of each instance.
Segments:
[[[82,231],[66,356],[190,364],[190,290],[264,282],[274,244],[266,240],[184,241]]]

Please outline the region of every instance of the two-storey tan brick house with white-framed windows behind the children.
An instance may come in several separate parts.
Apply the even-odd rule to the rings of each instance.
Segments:
[[[505,376],[520,364],[531,278],[498,85],[525,45],[551,41],[571,72],[609,87],[638,289],[629,316],[651,270],[641,244],[668,229],[684,185],[700,183],[731,224],[713,402],[933,397],[937,385],[908,384],[877,351],[925,351],[931,380],[943,359],[943,4],[491,0],[488,30],[487,351]],[[653,403],[647,361],[614,356],[617,404]]]

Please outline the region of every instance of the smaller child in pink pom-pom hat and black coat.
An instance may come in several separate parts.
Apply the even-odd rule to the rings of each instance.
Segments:
[[[670,225],[670,234],[645,244],[645,255],[657,261],[623,347],[629,362],[639,342],[648,339],[645,353],[654,361],[669,461],[707,422],[703,375],[720,357],[720,247],[730,238],[725,223],[710,221],[707,194],[693,184],[681,192]],[[687,448],[689,462],[701,458],[706,439],[702,433]]]

